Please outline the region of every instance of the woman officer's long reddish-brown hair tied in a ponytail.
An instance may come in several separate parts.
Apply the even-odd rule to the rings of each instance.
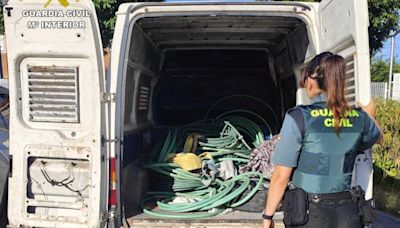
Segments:
[[[318,87],[325,91],[328,109],[332,110],[335,119],[335,132],[339,134],[340,119],[350,110],[345,94],[346,61],[340,55],[323,52],[305,67],[299,82],[301,87],[305,86],[308,77],[316,80]]]

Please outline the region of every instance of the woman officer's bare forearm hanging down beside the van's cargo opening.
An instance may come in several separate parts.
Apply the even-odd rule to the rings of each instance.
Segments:
[[[273,215],[282,200],[285,189],[289,183],[292,174],[292,167],[276,165],[272,174],[271,183],[268,191],[267,203],[265,206],[265,214]]]

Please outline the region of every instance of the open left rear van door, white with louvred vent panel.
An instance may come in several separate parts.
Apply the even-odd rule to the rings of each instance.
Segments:
[[[10,0],[11,227],[107,221],[105,76],[89,0]],[[106,99],[105,99],[106,100]]]

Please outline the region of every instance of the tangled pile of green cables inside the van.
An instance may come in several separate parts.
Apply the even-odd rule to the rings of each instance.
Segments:
[[[252,120],[238,115],[232,116],[232,113],[246,113],[257,117],[271,133],[270,126],[261,116],[247,110],[229,111],[214,120],[205,119],[169,130],[165,140],[153,148],[145,168],[158,173],[160,178],[164,178],[162,180],[170,180],[171,184],[166,185],[169,187],[167,191],[148,193],[149,197],[141,202],[145,214],[167,219],[211,217],[222,213],[226,208],[243,205],[260,190],[263,183],[260,172],[246,172],[223,180],[204,173],[189,172],[176,164],[168,163],[171,154],[182,151],[184,139],[196,132],[201,135],[197,152],[208,152],[216,164],[223,161],[232,161],[236,166],[247,164],[251,151],[263,142],[264,134]],[[253,179],[257,180],[254,186]],[[157,184],[161,188],[165,187],[163,183]],[[250,192],[243,195],[249,188]],[[184,197],[190,202],[173,202],[177,197]],[[149,201],[155,201],[159,209],[146,208],[145,203]]]

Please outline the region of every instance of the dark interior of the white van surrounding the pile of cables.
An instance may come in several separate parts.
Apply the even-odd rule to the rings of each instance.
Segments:
[[[133,227],[259,227],[262,208],[203,220],[143,214],[141,200],[157,182],[143,164],[168,129],[230,111],[256,113],[268,122],[264,134],[277,134],[296,105],[295,75],[314,54],[306,24],[260,14],[158,15],[137,19],[130,31],[121,167],[127,221]],[[263,196],[257,200],[264,204]]]

